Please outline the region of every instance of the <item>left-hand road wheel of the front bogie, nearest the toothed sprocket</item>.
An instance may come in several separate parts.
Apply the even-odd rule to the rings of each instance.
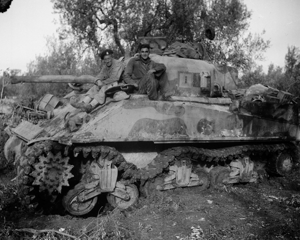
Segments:
[[[96,204],[97,196],[83,202],[79,202],[77,196],[85,190],[85,183],[78,183],[73,189],[69,190],[62,198],[62,205],[72,215],[84,215],[88,213]]]

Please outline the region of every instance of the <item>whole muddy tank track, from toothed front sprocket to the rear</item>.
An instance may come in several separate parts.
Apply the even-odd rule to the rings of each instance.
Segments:
[[[62,157],[61,144],[54,141],[38,142],[30,146],[25,154],[17,161],[17,190],[21,203],[30,211],[39,213],[42,209],[50,209],[49,203],[54,203],[57,193],[61,191],[63,185],[68,185],[68,179],[73,175],[70,173],[72,165],[68,163],[68,157]],[[259,145],[239,145],[218,149],[205,149],[192,146],[178,146],[166,149],[160,152],[153,161],[146,167],[137,169],[137,167],[130,162],[127,162],[121,153],[114,147],[109,146],[76,146],[72,148],[74,156],[82,154],[88,160],[101,157],[102,159],[111,160],[112,163],[118,168],[118,178],[122,178],[133,183],[140,181],[143,185],[148,179],[152,179],[161,173],[168,171],[169,165],[173,165],[177,160],[191,161],[208,161],[212,163],[227,162],[235,158],[243,157],[244,155],[267,155],[270,153],[280,154],[281,152],[288,152],[292,155],[293,159],[300,159],[300,152],[298,148],[292,143],[285,144],[259,144]],[[68,154],[71,154],[68,151]],[[48,156],[48,157],[47,157]],[[43,181],[40,174],[41,169],[46,171],[46,166],[50,159],[56,158],[56,162],[65,165],[63,172],[63,179],[56,182],[59,183],[55,186],[51,180]],[[40,161],[42,159],[42,161]],[[86,162],[88,162],[88,160]],[[56,166],[54,160],[54,167]],[[88,163],[86,163],[88,164]],[[88,168],[84,165],[77,169],[81,173],[81,182],[89,182],[92,177],[89,174]],[[57,169],[57,172],[59,170]],[[55,180],[54,180],[55,183]],[[39,207],[37,207],[39,205]],[[54,205],[54,204],[53,204]],[[45,207],[43,207],[45,206]],[[41,212],[40,212],[41,213]]]

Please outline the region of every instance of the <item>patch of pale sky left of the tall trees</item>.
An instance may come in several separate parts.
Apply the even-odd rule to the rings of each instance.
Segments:
[[[50,0],[12,0],[0,13],[0,70],[27,69],[35,55],[46,50],[46,36],[55,34],[58,15]]]

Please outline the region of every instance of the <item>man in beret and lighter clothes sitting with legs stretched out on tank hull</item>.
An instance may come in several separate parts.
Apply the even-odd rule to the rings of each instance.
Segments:
[[[91,112],[99,104],[104,103],[104,91],[108,87],[117,85],[122,80],[124,65],[121,61],[113,59],[112,53],[111,49],[102,51],[101,59],[105,65],[95,77],[94,85],[85,93],[85,97],[81,102],[76,102],[77,96],[71,97],[70,104],[73,107],[82,109],[87,113]]]

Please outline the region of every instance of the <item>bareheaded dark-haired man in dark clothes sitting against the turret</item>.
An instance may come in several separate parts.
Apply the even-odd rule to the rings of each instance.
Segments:
[[[149,44],[139,46],[139,55],[131,58],[125,68],[123,80],[135,86],[134,93],[147,94],[150,100],[157,100],[157,88],[166,96],[168,81],[165,65],[156,63],[149,57]]]

